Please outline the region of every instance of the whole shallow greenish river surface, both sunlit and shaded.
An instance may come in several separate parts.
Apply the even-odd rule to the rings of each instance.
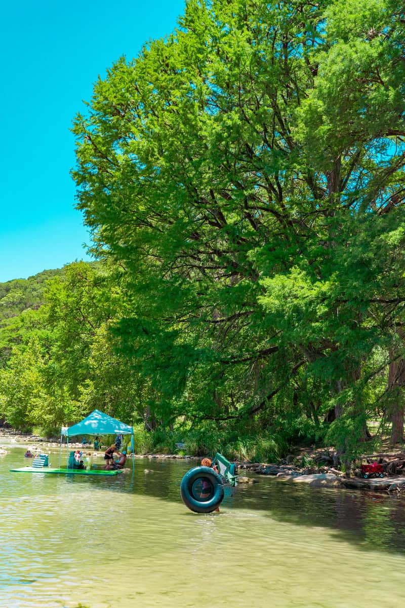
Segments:
[[[403,600],[401,497],[260,477],[240,485],[219,515],[199,515],[179,496],[191,463],[137,459],[133,475],[106,478],[12,473],[27,463],[25,449],[10,450],[0,456],[1,607],[392,608]]]

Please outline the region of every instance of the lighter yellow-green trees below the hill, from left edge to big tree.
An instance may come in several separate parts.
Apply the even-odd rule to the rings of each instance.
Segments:
[[[97,264],[70,264],[47,283],[43,299],[38,311],[23,311],[0,330],[4,342],[15,333],[0,370],[0,417],[45,432],[95,408],[145,420],[145,381],[116,353],[108,330],[123,308],[117,272],[113,278]]]

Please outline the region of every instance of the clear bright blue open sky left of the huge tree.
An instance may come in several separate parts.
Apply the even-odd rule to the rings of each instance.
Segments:
[[[0,282],[89,259],[74,209],[73,116],[121,55],[171,32],[185,0],[7,2],[2,9]]]

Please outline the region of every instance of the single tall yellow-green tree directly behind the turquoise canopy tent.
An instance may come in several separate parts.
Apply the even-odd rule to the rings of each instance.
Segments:
[[[63,280],[49,283],[46,297],[46,326],[52,336],[43,373],[47,392],[54,398],[65,392],[78,404],[74,411],[79,416],[95,408],[129,421],[141,416],[143,385],[128,359],[123,362],[115,352],[108,330],[123,308],[118,275],[113,282],[107,269],[70,264]]]

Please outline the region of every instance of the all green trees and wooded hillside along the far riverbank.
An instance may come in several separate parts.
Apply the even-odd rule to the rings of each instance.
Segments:
[[[256,461],[402,441],[404,57],[397,0],[189,0],[113,64],[73,124],[98,261],[0,285],[0,416]]]

